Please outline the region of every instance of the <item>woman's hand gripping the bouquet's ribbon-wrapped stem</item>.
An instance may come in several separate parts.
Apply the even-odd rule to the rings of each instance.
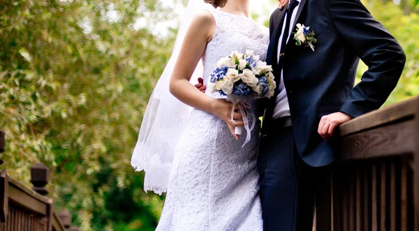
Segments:
[[[226,122],[228,128],[230,129],[230,133],[236,138],[236,140],[238,140],[239,136],[235,135],[234,128],[236,126],[244,126],[239,107],[236,105],[234,109],[235,112],[233,114],[233,121],[231,120],[231,110],[233,109],[233,103],[227,102],[226,99],[214,98],[212,108],[212,114],[215,114],[217,117]]]

